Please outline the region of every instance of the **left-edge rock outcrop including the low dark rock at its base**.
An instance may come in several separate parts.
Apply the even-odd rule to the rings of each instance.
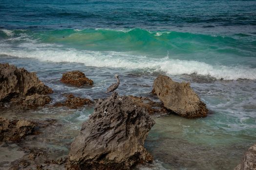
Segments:
[[[36,108],[51,101],[45,94],[52,89],[41,82],[36,73],[14,65],[0,64],[0,107]]]

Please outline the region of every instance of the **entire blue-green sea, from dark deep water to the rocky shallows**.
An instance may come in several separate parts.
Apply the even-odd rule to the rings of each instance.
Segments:
[[[64,101],[63,93],[105,98],[115,74],[120,95],[152,97],[159,74],[190,82],[208,117],[155,118],[145,141],[155,161],[141,170],[232,170],[256,143],[255,0],[0,0],[0,63],[35,71],[55,92],[52,103]],[[94,85],[62,84],[71,70]],[[86,106],[0,114],[58,119],[64,128],[33,144],[58,157],[92,112]]]

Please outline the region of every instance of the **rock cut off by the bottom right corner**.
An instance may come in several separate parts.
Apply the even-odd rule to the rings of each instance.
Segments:
[[[242,162],[234,170],[256,170],[256,144],[247,150]]]

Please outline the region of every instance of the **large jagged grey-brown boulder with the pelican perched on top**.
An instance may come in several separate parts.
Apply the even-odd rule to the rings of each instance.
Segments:
[[[71,145],[67,170],[130,170],[152,161],[144,141],[153,124],[127,96],[99,100]]]

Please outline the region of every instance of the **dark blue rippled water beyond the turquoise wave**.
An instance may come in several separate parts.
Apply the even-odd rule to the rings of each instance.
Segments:
[[[255,11],[255,0],[1,0],[0,26],[256,34]]]

